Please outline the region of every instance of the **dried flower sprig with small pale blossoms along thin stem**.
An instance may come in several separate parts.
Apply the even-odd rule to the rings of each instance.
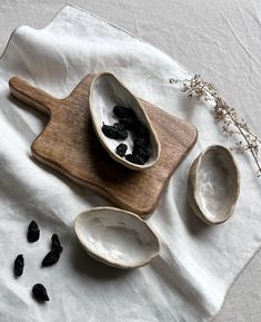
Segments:
[[[247,121],[239,117],[234,108],[230,107],[220,96],[217,88],[211,82],[203,81],[200,75],[194,75],[191,79],[170,78],[171,84],[182,84],[181,91],[188,97],[212,100],[214,103],[213,116],[218,123],[222,124],[222,133],[227,137],[238,135],[240,139],[235,143],[232,150],[243,153],[250,152],[258,167],[257,175],[261,176],[261,165],[259,160],[259,147],[261,140],[253,134]]]

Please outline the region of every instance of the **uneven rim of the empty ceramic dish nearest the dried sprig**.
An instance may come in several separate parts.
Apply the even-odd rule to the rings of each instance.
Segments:
[[[239,198],[239,194],[240,194],[240,172],[239,172],[239,167],[237,165],[237,162],[235,162],[235,158],[234,156],[232,155],[232,153],[224,146],[222,145],[219,145],[219,144],[212,144],[210,146],[208,146],[204,150],[202,150],[198,157],[194,159],[193,164],[191,165],[191,168],[190,168],[190,172],[189,172],[189,180],[191,180],[191,175],[193,175],[194,177],[194,184],[193,184],[193,188],[192,191],[194,192],[198,186],[199,186],[199,183],[198,183],[198,169],[199,169],[199,166],[201,164],[201,160],[202,160],[202,157],[211,149],[217,149],[217,148],[221,148],[223,150],[225,150],[228,153],[228,155],[231,157],[231,160],[232,160],[232,164],[234,165],[234,169],[235,169],[235,173],[237,173],[237,183],[235,183],[235,194],[233,196],[233,204],[232,206],[229,208],[229,211],[227,212],[224,218],[222,219],[210,219],[204,211],[202,211],[201,208],[201,205],[200,205],[200,202],[199,202],[199,198],[198,198],[198,195],[195,195],[193,193],[193,202],[191,202],[191,193],[189,193],[189,201],[190,201],[190,205],[193,209],[193,212],[195,213],[195,215],[198,217],[200,217],[204,223],[209,224],[209,225],[218,225],[218,224],[222,224],[224,222],[227,222],[233,214],[234,212],[234,207],[235,207],[235,204],[238,202],[238,198]],[[193,174],[192,174],[193,173]],[[191,187],[189,187],[189,189],[191,189]]]

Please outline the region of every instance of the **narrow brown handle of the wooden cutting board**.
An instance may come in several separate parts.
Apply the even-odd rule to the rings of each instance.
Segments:
[[[30,105],[48,116],[51,116],[53,107],[57,106],[57,98],[52,97],[44,90],[33,87],[20,77],[12,77],[9,80],[9,87],[11,94],[19,100]]]

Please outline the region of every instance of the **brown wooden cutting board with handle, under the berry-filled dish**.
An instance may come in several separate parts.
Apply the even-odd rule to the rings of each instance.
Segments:
[[[13,96],[50,117],[31,146],[32,155],[118,207],[148,216],[157,207],[170,176],[194,145],[197,129],[139,99],[161,142],[161,156],[149,169],[130,170],[112,160],[92,128],[89,87],[93,78],[94,74],[88,75],[64,99],[54,98],[19,77],[10,79]]]

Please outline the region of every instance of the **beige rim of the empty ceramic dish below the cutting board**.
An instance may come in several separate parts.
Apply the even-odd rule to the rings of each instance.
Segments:
[[[78,222],[79,222],[79,218],[82,216],[82,215],[86,215],[90,212],[99,212],[99,211],[106,211],[106,209],[109,209],[109,211],[114,211],[114,212],[119,212],[119,213],[126,213],[128,214],[129,216],[132,216],[132,217],[135,217],[139,222],[141,222],[143,225],[145,225],[145,227],[150,231],[150,233],[154,236],[154,240],[155,240],[155,244],[157,244],[157,248],[155,251],[144,261],[141,261],[138,265],[124,265],[124,264],[118,264],[117,262],[113,262],[113,261],[108,261],[106,258],[103,258],[102,256],[96,254],[94,252],[92,252],[87,245],[86,243],[82,242],[81,240],[81,236],[78,232],[78,228],[77,228],[77,225]],[[117,207],[110,207],[110,206],[99,206],[99,207],[91,207],[90,209],[88,211],[83,211],[81,213],[79,213],[77,216],[76,216],[76,219],[74,219],[74,225],[73,225],[73,228],[74,228],[74,233],[77,235],[77,238],[78,241],[80,242],[81,246],[83,247],[83,250],[91,256],[93,257],[94,260],[103,263],[103,264],[107,264],[109,266],[112,266],[112,267],[117,267],[117,269],[122,269],[122,270],[129,270],[129,269],[137,269],[137,267],[141,267],[141,266],[144,266],[147,264],[149,264],[155,256],[159,255],[160,253],[160,250],[161,250],[161,244],[160,244],[160,240],[159,240],[159,236],[158,234],[153,231],[153,228],[145,222],[143,221],[140,216],[138,216],[137,214],[132,213],[132,212],[129,212],[129,211],[124,211],[124,209],[121,209],[121,208],[117,208]]]

